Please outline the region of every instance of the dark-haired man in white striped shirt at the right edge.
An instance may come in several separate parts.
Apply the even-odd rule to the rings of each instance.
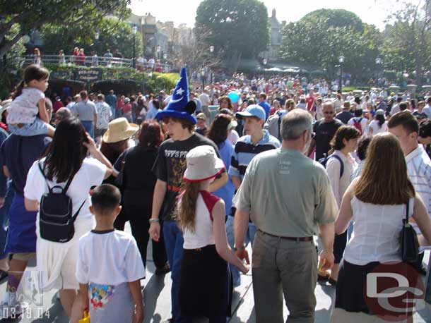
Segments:
[[[418,121],[410,111],[401,111],[389,119],[388,128],[389,133],[398,138],[406,157],[408,177],[416,193],[422,198],[428,214],[431,214],[431,160],[422,145],[418,144]],[[413,224],[413,227],[420,233],[416,224]],[[425,275],[426,270],[422,264],[423,250],[419,256],[415,268]]]

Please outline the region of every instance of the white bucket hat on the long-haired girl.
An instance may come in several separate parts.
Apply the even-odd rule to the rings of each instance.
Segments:
[[[211,146],[198,146],[187,153],[187,169],[184,172],[184,181],[201,182],[218,176],[225,164],[217,157]]]

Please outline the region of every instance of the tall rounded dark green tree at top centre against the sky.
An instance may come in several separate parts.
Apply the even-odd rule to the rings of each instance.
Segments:
[[[198,42],[223,52],[235,69],[241,57],[253,59],[266,49],[268,10],[258,0],[203,0],[196,11],[195,35]]]

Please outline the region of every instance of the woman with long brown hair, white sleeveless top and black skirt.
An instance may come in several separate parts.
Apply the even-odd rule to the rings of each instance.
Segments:
[[[401,263],[400,234],[406,215],[413,217],[423,233],[418,236],[420,245],[431,242],[430,217],[408,178],[406,161],[396,137],[390,133],[374,135],[365,160],[361,176],[355,178],[346,190],[335,223],[336,234],[345,232],[350,221],[354,226],[338,274],[331,322],[377,322],[375,317],[360,316],[355,312],[383,314],[375,308],[370,309],[365,298],[367,275],[379,264],[384,264],[384,271],[389,273],[396,273],[401,268],[401,272],[411,269],[413,276],[408,274],[406,278],[409,283],[414,275],[420,279],[410,264]],[[395,284],[398,286],[398,282]],[[393,299],[394,302],[394,298],[386,300]],[[382,300],[378,303],[384,304],[383,297]],[[364,320],[368,318],[370,320]],[[401,322],[401,319],[396,321]]]

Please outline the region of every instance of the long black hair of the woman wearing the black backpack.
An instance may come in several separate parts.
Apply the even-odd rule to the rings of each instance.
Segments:
[[[63,183],[74,176],[87,155],[85,129],[77,118],[66,118],[59,123],[45,154],[45,174],[50,181]]]

